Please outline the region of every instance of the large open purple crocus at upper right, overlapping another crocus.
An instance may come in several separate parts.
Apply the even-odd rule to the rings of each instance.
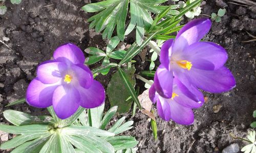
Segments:
[[[175,41],[170,39],[163,44],[161,65],[154,78],[159,95],[172,97],[174,77],[187,87],[191,84],[213,93],[236,86],[232,73],[224,66],[226,50],[215,43],[200,41],[210,27],[210,19],[192,20],[179,31]]]

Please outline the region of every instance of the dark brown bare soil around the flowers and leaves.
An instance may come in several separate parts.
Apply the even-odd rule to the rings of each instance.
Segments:
[[[51,59],[58,45],[73,42],[82,50],[89,46],[104,49],[106,40],[102,40],[94,30],[89,30],[86,21],[93,14],[80,9],[86,3],[90,0],[23,0],[20,5],[6,2],[8,12],[0,16],[0,39],[6,40],[12,50],[0,43],[1,123],[7,124],[2,113],[6,109],[37,115],[47,113],[26,104],[10,108],[4,106],[25,96],[29,82],[35,77],[36,66]],[[244,145],[233,140],[229,133],[244,137],[253,120],[251,114],[256,109],[256,43],[242,42],[250,39],[245,30],[256,35],[256,6],[246,8],[228,1],[204,1],[202,13],[210,15],[224,7],[227,13],[222,22],[213,23],[205,40],[227,49],[229,59],[226,66],[236,78],[237,87],[221,94],[205,93],[208,100],[201,109],[195,110],[193,125],[182,126],[157,117],[157,141],[152,137],[148,117],[137,113],[133,118],[134,128],[126,134],[137,138],[139,152],[220,152],[232,143],[238,143],[240,148]],[[134,39],[129,37],[126,40]],[[148,69],[147,62],[139,63],[137,72],[145,67]],[[106,87],[110,78],[111,73],[105,77],[99,75],[96,79]],[[139,85],[143,84],[139,82]],[[1,133],[0,141],[7,137]]]

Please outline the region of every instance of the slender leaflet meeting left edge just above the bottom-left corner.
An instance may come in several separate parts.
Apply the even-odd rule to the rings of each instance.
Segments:
[[[46,133],[47,134],[47,133]],[[5,143],[1,144],[0,149],[11,149],[11,148],[15,148],[27,141],[36,139],[41,137],[41,133],[33,133],[33,134],[24,134],[24,135],[19,135],[16,136],[15,138],[12,138],[9,141],[6,141]]]

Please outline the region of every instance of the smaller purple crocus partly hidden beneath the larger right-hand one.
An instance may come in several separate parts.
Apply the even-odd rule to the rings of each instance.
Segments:
[[[156,92],[155,87],[155,84],[151,86],[149,96],[154,104],[157,103],[157,112],[162,119],[172,119],[184,125],[194,122],[192,109],[201,107],[204,102],[203,94],[197,88],[187,88],[175,78],[172,97],[164,98]]]

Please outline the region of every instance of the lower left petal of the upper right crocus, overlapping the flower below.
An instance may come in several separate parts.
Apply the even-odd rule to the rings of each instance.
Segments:
[[[160,65],[155,74],[154,86],[159,95],[171,98],[173,94],[173,70],[168,70]]]

